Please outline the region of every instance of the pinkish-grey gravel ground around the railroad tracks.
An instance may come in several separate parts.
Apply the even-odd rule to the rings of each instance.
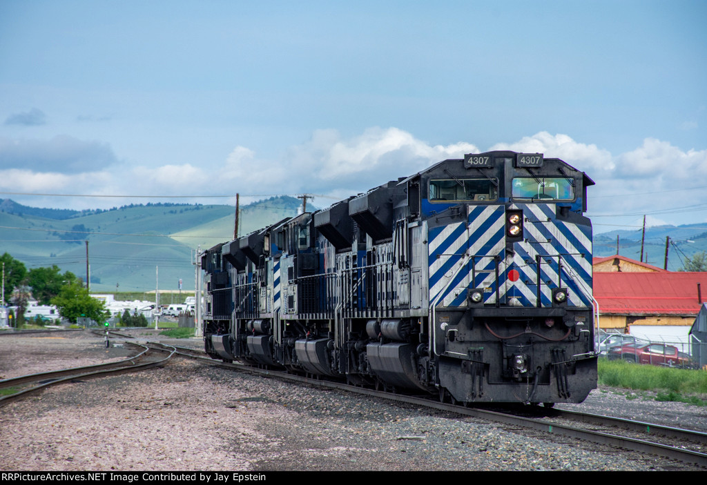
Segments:
[[[137,338],[153,339],[149,330]],[[201,340],[172,341],[201,347]],[[0,337],[0,378],[135,353],[88,332]],[[600,389],[573,409],[707,429],[704,407]],[[652,455],[187,359],[0,407],[3,471],[701,470]]]

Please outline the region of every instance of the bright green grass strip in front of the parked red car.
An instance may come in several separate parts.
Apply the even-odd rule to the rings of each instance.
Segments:
[[[599,383],[614,388],[653,391],[655,400],[707,405],[707,372],[629,364],[600,358]]]

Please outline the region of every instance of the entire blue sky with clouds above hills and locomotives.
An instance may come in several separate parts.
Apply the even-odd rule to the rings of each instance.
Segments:
[[[596,181],[597,233],[707,228],[706,22],[703,0],[0,0],[0,198],[326,207],[511,149]]]

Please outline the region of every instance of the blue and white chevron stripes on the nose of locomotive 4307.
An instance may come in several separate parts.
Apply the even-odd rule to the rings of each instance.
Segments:
[[[555,206],[514,204],[523,211],[523,241],[506,258],[506,220],[502,205],[469,206],[467,222],[428,232],[429,301],[434,306],[462,306],[467,290],[484,288],[484,303],[515,298],[537,305],[537,256],[541,257],[542,306],[551,306],[552,289],[569,289],[568,305],[592,304],[592,228],[557,220]],[[496,281],[498,257],[498,281]],[[508,279],[510,270],[520,277]],[[472,281],[472,277],[474,281]]]

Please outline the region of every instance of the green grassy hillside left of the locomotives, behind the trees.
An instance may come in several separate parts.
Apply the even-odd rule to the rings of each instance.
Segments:
[[[0,211],[0,253],[28,269],[57,265],[85,279],[88,239],[92,292],[176,290],[180,279],[193,291],[194,249],[233,239],[230,205],[132,205],[64,219],[20,207],[21,215]],[[299,207],[286,196],[246,205],[240,235],[296,215]]]

